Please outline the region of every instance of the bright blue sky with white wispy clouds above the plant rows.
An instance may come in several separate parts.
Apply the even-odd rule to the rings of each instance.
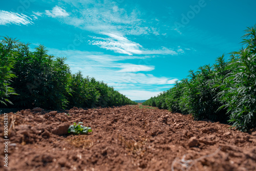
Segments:
[[[1,1],[0,35],[42,44],[132,100],[148,99],[241,48],[256,1]]]

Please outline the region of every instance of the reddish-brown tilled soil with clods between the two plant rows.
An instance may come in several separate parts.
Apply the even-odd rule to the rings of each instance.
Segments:
[[[9,113],[0,170],[256,170],[256,131],[148,106]],[[83,122],[88,135],[68,134]],[[4,116],[0,117],[0,135]]]

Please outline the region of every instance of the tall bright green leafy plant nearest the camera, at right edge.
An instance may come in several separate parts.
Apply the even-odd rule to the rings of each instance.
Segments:
[[[248,28],[243,36],[244,49],[233,52],[221,84],[222,107],[227,108],[230,122],[241,131],[256,127],[256,31]]]

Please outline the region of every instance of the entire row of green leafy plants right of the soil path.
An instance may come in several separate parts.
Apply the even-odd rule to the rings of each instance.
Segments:
[[[224,55],[212,66],[189,71],[189,78],[143,105],[157,106],[196,119],[230,122],[241,131],[256,127],[256,33],[255,26],[243,36],[245,48]]]

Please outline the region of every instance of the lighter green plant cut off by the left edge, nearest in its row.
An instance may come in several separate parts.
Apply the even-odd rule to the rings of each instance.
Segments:
[[[0,103],[7,105],[13,104],[9,97],[17,95],[12,87],[10,87],[11,79],[15,77],[12,69],[15,64],[16,53],[13,48],[17,44],[17,40],[4,37],[0,40]]]

